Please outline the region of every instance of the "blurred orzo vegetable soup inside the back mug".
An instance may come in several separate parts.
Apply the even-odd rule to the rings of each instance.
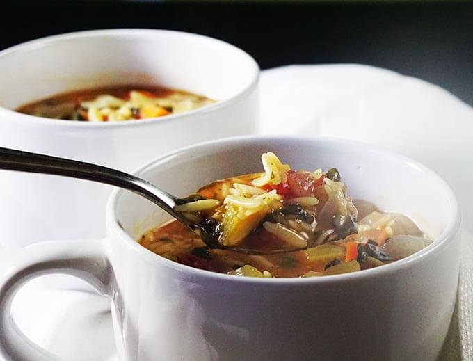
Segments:
[[[183,90],[130,85],[58,94],[16,111],[42,118],[121,122],[183,113],[214,102]]]

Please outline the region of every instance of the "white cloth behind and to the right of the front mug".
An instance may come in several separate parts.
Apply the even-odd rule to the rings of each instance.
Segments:
[[[268,70],[261,97],[264,134],[271,129],[387,147],[426,164],[454,189],[465,230],[458,305],[441,360],[472,361],[473,109],[438,86],[360,65]]]

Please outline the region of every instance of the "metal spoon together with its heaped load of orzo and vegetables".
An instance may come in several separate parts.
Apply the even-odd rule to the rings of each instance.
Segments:
[[[209,248],[266,255],[302,250],[311,243],[337,239],[337,232],[319,234],[319,238],[322,237],[323,240],[314,239],[317,227],[314,211],[311,213],[310,209],[306,210],[300,205],[305,204],[310,208],[318,203],[311,193],[316,187],[316,177],[309,177],[307,173],[305,177],[297,175],[288,179],[289,167],[282,165],[272,153],[268,157],[265,173],[217,181],[186,198],[178,198],[145,179],[119,170],[7,148],[0,148],[0,169],[61,175],[127,189],[157,204],[180,223],[191,228]],[[337,177],[336,171],[332,173],[333,177]],[[329,173],[320,173],[318,177],[317,179],[329,177]],[[296,186],[292,187],[292,195],[296,197],[284,202],[284,197],[280,194],[285,189],[282,184],[289,181]],[[297,188],[299,192],[294,193]],[[332,204],[330,207],[339,206]],[[339,238],[356,231],[355,220],[348,214],[346,204],[344,207],[341,214],[343,219],[337,220],[337,229],[341,230]],[[300,232],[295,231],[294,227],[287,227],[288,224]],[[265,241],[271,235],[276,235],[272,237],[275,241]]]

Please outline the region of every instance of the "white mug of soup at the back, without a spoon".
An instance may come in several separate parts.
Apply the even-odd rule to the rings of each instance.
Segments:
[[[0,52],[0,146],[132,170],[178,147],[250,134],[257,121],[258,77],[257,63],[244,51],[177,31],[84,31],[26,42]],[[138,95],[150,98],[145,92],[157,95],[157,87],[211,100],[200,107],[179,105],[184,110],[179,113],[173,113],[176,106],[151,102],[138,116],[136,102],[120,104],[121,110],[106,104],[113,115],[110,110],[100,115],[95,97],[101,93],[88,91],[102,88],[127,103],[133,100],[129,90],[142,90]],[[113,93],[120,88],[126,91]],[[56,95],[79,102],[77,94],[89,102],[78,109],[91,121],[80,118],[80,112],[77,120],[58,120],[15,111],[47,98],[54,104]],[[127,112],[133,119],[120,119]],[[45,239],[100,236],[109,192],[109,187],[73,179],[3,172],[0,244],[15,248]]]

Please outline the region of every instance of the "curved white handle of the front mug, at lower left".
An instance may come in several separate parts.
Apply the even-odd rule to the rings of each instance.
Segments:
[[[13,298],[29,280],[42,275],[63,273],[85,280],[103,296],[111,295],[111,266],[103,240],[36,243],[19,250],[1,268],[0,355],[5,360],[59,360],[27,339],[11,316]]]

